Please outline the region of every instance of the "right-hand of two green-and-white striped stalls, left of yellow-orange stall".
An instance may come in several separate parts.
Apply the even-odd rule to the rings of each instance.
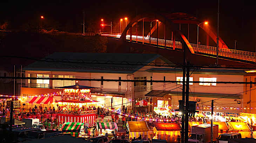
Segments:
[[[108,135],[113,136],[112,131],[115,132],[117,130],[116,123],[106,123],[106,122],[96,122],[96,129],[99,133],[99,136],[105,136],[106,133]]]

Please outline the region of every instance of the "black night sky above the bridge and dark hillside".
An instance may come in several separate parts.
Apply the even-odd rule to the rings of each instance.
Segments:
[[[220,37],[231,48],[237,40],[237,49],[255,51],[256,1],[220,0]],[[217,30],[217,0],[197,1],[1,1],[0,20],[22,24],[44,15],[47,19],[63,23],[74,23],[81,27],[82,11],[86,20],[119,20],[133,17],[137,13],[151,10],[157,13],[184,12],[209,21]],[[85,21],[86,21],[85,20]],[[192,33],[191,35],[195,35]]]

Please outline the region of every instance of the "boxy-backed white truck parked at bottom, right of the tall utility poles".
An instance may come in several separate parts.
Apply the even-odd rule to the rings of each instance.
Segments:
[[[192,126],[191,134],[188,136],[188,143],[210,143],[211,142],[211,124],[201,124]],[[213,142],[218,137],[218,125],[213,125]]]

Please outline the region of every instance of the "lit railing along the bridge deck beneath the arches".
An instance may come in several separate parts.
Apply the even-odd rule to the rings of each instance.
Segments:
[[[120,38],[120,34],[101,34],[101,36],[107,36],[107,37],[114,37],[114,38]],[[126,40],[130,40],[130,35],[126,36]],[[136,36],[132,35],[132,41],[133,42],[139,42],[139,43],[145,43],[145,44],[152,44],[152,45],[159,45],[159,46],[164,46],[164,39],[158,39],[158,44],[157,44],[157,38],[149,38],[149,37],[144,37],[143,36]],[[206,46],[206,45],[197,45],[197,44],[190,44],[195,53],[204,53],[208,55],[216,55],[216,47],[214,46]],[[173,41],[172,40],[166,40],[166,48],[173,50]],[[177,49],[182,49],[182,44],[181,42],[175,41],[175,48]],[[222,57],[227,57],[227,58],[233,58],[233,59],[239,59],[239,60],[245,60],[245,61],[253,61],[256,62],[256,54],[255,52],[248,52],[248,51],[241,51],[241,50],[233,50],[233,49],[228,49],[228,48],[221,48],[219,47],[219,52],[218,55]]]

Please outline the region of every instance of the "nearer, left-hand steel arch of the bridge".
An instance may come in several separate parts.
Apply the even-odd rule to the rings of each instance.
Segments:
[[[181,31],[177,31],[177,30],[174,29],[174,27],[175,27],[174,23],[170,19],[168,19],[167,17],[165,17],[165,16],[163,16],[161,14],[156,14],[156,13],[145,13],[145,14],[137,15],[136,17],[134,17],[129,22],[127,27],[123,30],[123,33],[122,33],[122,35],[120,37],[120,41],[121,42],[126,41],[126,35],[128,33],[128,30],[130,30],[130,40],[132,40],[132,27],[134,27],[137,24],[137,22],[142,21],[143,18],[152,18],[152,19],[159,20],[160,22],[162,22],[164,24],[164,29],[169,28],[169,29],[171,29],[171,31],[173,31],[174,39],[176,37],[182,43],[186,43],[186,45],[189,48],[190,52],[194,53],[194,50],[191,47],[190,43],[188,42],[187,38],[182,34]]]

